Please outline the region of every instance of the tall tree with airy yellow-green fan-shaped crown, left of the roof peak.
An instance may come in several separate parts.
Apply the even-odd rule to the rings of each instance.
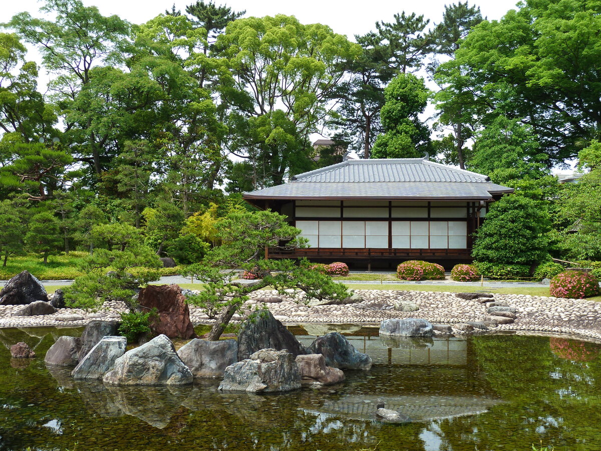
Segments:
[[[328,114],[346,62],[361,48],[328,26],[278,15],[228,23],[216,49],[232,75],[222,77],[221,87],[222,95],[234,97],[230,125],[240,139],[231,150],[260,166],[265,176],[259,186],[304,170],[310,164],[308,136]],[[282,155],[293,143],[290,155]]]

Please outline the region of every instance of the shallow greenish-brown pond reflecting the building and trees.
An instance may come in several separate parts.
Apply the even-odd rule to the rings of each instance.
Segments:
[[[334,327],[335,328],[335,327]],[[304,343],[323,326],[290,328]],[[0,450],[601,450],[600,345],[519,335],[385,342],[344,333],[373,358],[340,385],[285,394],[73,381],[43,357],[81,330],[1,329]],[[26,342],[34,360],[11,360]],[[374,421],[377,398],[412,418]]]

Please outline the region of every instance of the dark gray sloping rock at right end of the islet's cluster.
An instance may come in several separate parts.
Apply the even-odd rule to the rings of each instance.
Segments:
[[[323,354],[326,365],[347,370],[368,370],[371,358],[355,349],[349,340],[339,332],[331,332],[317,337],[309,346],[314,354]]]

